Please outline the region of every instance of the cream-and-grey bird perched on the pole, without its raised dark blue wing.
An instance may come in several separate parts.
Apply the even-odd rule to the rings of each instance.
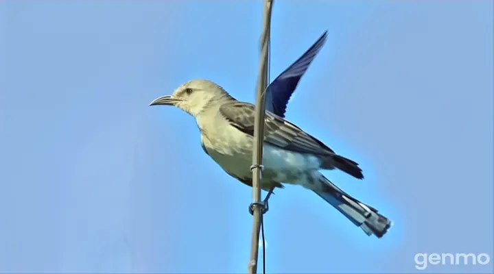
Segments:
[[[202,149],[228,175],[252,186],[252,146],[255,105],[237,101],[222,86],[207,79],[193,79],[172,95],[150,105],[172,105],[193,116],[200,130]],[[283,117],[266,111],[261,188],[270,193],[284,184],[302,186],[316,193],[368,235],[381,238],[392,222],[378,211],[351,197],[321,170],[339,169],[364,179],[359,164],[338,155],[323,142]]]

